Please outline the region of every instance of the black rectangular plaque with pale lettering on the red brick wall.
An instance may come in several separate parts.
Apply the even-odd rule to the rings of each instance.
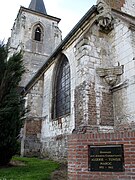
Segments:
[[[89,170],[124,171],[123,145],[89,146]]]

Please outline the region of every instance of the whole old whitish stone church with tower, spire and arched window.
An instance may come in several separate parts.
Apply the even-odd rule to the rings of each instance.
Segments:
[[[135,130],[134,6],[99,0],[64,40],[42,0],[20,8],[10,52],[26,67],[22,155],[66,159],[70,134]]]

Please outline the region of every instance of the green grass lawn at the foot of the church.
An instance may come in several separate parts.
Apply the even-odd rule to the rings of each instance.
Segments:
[[[0,168],[0,180],[49,180],[51,173],[59,168],[57,162],[37,158],[14,157],[13,162],[20,163]]]

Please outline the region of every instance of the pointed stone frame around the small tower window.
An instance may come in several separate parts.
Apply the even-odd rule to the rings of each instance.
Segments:
[[[40,37],[40,41],[35,39],[35,33],[36,33],[36,29],[39,28],[41,30],[41,37]],[[44,36],[44,28],[41,25],[41,23],[36,23],[33,28],[32,28],[32,40],[42,43],[43,42],[43,36]]]

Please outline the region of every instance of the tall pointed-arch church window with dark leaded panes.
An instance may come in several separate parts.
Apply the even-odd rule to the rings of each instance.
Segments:
[[[54,118],[70,113],[70,99],[70,65],[66,56],[63,55],[55,79]]]

